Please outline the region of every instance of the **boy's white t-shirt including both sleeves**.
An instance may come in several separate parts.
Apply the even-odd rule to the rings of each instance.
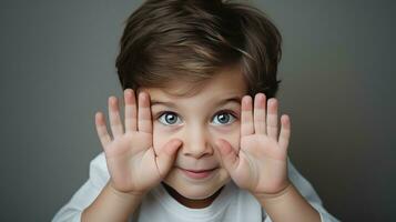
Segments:
[[[288,176],[299,193],[315,208],[322,222],[338,221],[322,205],[322,201],[297,170],[288,162]],[[89,206],[110,179],[104,153],[90,163],[89,180],[74,193],[71,200],[59,210],[52,222],[80,222],[82,211]],[[151,190],[142,200],[139,209],[131,215],[131,222],[271,222],[258,201],[247,191],[237,188],[232,181],[204,209],[190,209],[174,200],[162,184]]]

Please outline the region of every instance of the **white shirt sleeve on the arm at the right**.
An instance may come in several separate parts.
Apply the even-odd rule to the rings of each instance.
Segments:
[[[305,200],[319,213],[322,222],[338,222],[336,218],[329,214],[323,206],[322,200],[317,195],[312,184],[295,169],[290,159],[287,159],[288,178],[296,186],[298,192],[305,198]],[[264,222],[272,222],[270,216],[266,215],[263,210]],[[265,216],[266,215],[266,216]]]

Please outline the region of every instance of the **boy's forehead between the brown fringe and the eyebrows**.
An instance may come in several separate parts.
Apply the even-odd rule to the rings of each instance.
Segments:
[[[194,90],[189,93],[189,90]],[[143,88],[150,94],[151,100],[200,103],[216,102],[219,100],[243,97],[247,93],[247,84],[240,68],[224,68],[213,74],[213,78],[200,83],[174,81],[162,88]],[[187,93],[185,93],[187,91]]]

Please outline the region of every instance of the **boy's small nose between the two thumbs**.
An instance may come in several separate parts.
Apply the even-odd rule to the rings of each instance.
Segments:
[[[195,159],[213,155],[210,132],[203,128],[191,128],[184,134],[181,150],[184,155]]]

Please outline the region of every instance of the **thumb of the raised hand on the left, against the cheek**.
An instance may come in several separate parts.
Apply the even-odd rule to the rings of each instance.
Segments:
[[[156,155],[155,162],[162,178],[165,178],[167,171],[173,165],[173,161],[176,157],[176,151],[181,144],[181,140],[171,140],[162,148],[161,152]]]

